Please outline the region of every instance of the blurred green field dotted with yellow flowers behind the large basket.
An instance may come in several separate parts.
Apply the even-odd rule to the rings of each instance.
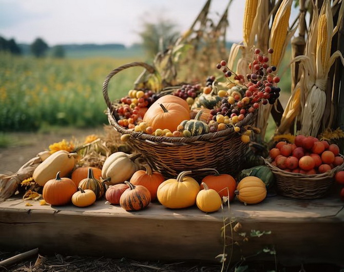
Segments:
[[[103,81],[112,69],[134,61],[33,59],[12,55],[1,55],[0,59],[1,131],[107,123]],[[140,72],[140,68],[132,68],[114,77],[109,86],[110,99],[125,95]]]

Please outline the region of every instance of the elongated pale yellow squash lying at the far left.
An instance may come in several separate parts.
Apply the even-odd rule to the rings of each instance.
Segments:
[[[56,173],[60,171],[60,177],[67,177],[75,166],[77,153],[69,153],[65,150],[59,150],[52,153],[33,171],[33,180],[44,186],[49,180],[55,178]]]

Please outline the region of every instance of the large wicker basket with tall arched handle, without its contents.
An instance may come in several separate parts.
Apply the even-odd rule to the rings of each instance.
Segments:
[[[117,123],[116,104],[108,96],[108,83],[111,77],[129,67],[141,66],[148,72],[155,69],[146,63],[129,63],[112,70],[103,84],[103,95],[108,107],[106,114],[110,125],[121,134],[130,134],[129,143],[138,150],[147,163],[160,171],[166,178],[177,177],[184,170],[215,168],[220,173],[235,175],[245,165],[245,152],[249,148],[240,140],[234,128],[197,135],[194,137],[157,137],[142,132],[128,130]],[[248,114],[239,126],[252,125],[254,115]]]

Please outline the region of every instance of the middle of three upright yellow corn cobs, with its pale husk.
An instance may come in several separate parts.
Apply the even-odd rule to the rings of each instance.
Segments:
[[[283,0],[271,27],[270,48],[274,49],[274,53],[271,54],[270,64],[274,66],[278,66],[282,59],[284,43],[288,34],[291,9],[292,1]]]

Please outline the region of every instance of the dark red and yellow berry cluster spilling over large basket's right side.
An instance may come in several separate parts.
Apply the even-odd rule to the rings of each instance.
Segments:
[[[268,53],[272,54],[274,50],[270,48]],[[228,98],[227,103],[223,103],[222,109],[225,108],[232,115],[233,113],[238,115],[241,110],[245,112],[254,112],[259,108],[260,103],[266,105],[268,102],[274,104],[279,97],[280,88],[274,86],[280,78],[273,72],[276,71],[275,66],[269,66],[267,62],[269,57],[260,52],[260,49],[255,49],[254,60],[249,64],[251,73],[246,74],[246,78],[242,74],[236,74],[230,70],[226,65],[226,61],[221,61],[217,64],[218,69],[222,69],[224,76],[231,81],[230,77],[234,75],[234,80],[239,81],[241,85],[247,87],[245,97],[240,98],[240,95],[232,95]],[[246,80],[247,79],[247,80]],[[226,104],[231,105],[228,107]],[[221,109],[221,114],[222,114]],[[224,112],[224,111],[223,111]],[[243,113],[245,114],[245,113]]]

